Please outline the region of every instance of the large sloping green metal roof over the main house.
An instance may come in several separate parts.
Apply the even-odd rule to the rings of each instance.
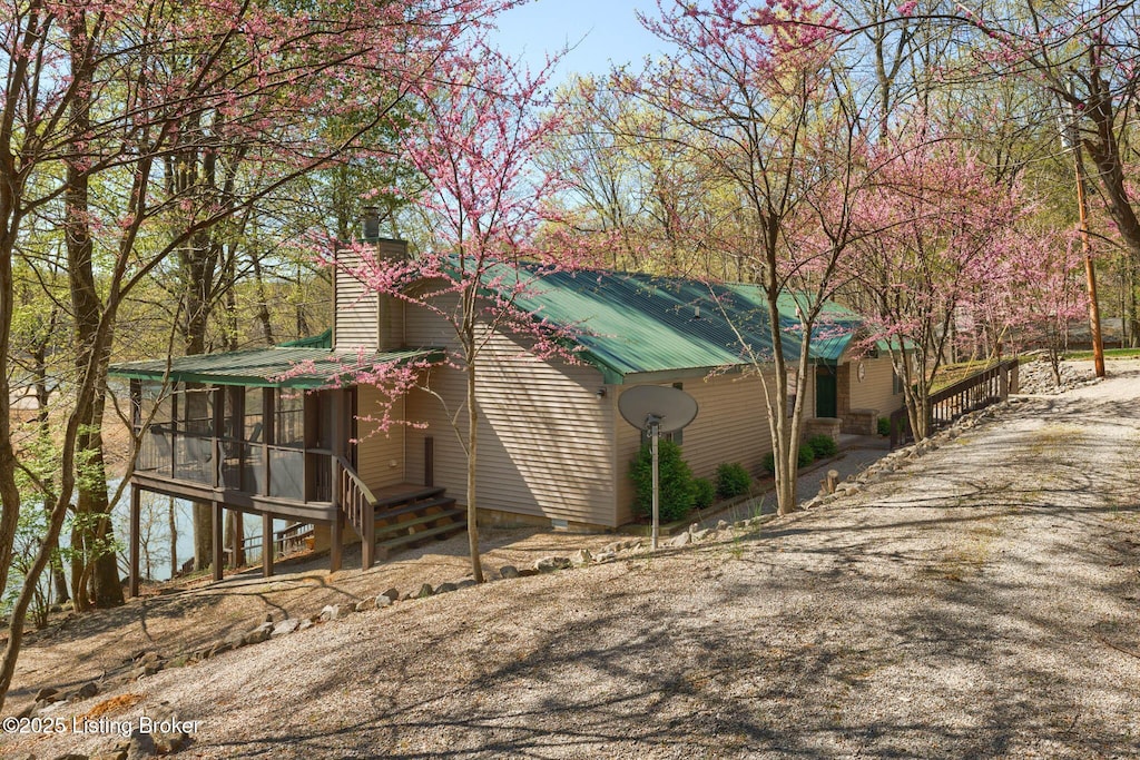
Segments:
[[[518,304],[571,330],[583,358],[597,366],[608,383],[750,363],[741,337],[760,361],[773,357],[766,301],[758,286],[596,270],[554,272],[537,278]],[[798,353],[799,340],[789,334],[784,356],[795,359]]]

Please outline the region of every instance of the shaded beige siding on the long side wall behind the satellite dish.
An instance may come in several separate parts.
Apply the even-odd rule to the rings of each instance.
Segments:
[[[630,387],[635,386],[626,386],[621,391]],[[759,378],[724,375],[685,381],[683,390],[697,399],[698,404],[697,418],[684,430],[682,438],[682,451],[693,475],[711,479],[720,464],[739,461],[754,476],[759,476],[764,455],[772,450],[772,433]],[[640,446],[641,432],[619,418],[616,490],[621,522],[633,518],[634,490],[629,480],[629,463]]]

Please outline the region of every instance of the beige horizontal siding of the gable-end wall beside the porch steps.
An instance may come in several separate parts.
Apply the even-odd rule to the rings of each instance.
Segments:
[[[405,337],[409,345],[455,343],[437,314],[408,307]],[[597,395],[601,374],[593,367],[542,361],[515,340],[496,335],[483,350],[480,385],[479,504],[551,520],[616,525],[613,510],[613,407]],[[407,399],[407,476],[423,482],[424,439],[434,441],[434,483],[465,500],[466,458],[448,415],[461,412],[463,373],[432,370],[431,387],[447,403],[424,392]]]

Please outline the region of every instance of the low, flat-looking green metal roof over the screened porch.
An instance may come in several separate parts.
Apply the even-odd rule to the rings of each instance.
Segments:
[[[438,361],[442,358],[443,352],[440,349],[360,353],[284,345],[178,357],[170,362],[169,376],[165,359],[112,365],[109,371],[116,377],[147,381],[162,381],[169,377],[171,382],[177,383],[316,389],[325,387],[339,377],[348,378],[355,370],[369,369],[377,365],[413,359]]]

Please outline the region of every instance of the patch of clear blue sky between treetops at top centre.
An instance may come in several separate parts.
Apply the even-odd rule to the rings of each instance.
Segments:
[[[499,31],[491,39],[504,52],[521,56],[532,70],[545,63],[547,52],[573,46],[555,70],[555,84],[572,73],[604,74],[610,60],[632,63],[637,70],[646,55],[660,51],[660,46],[638,23],[636,10],[656,15],[657,2],[534,0],[502,14]]]

